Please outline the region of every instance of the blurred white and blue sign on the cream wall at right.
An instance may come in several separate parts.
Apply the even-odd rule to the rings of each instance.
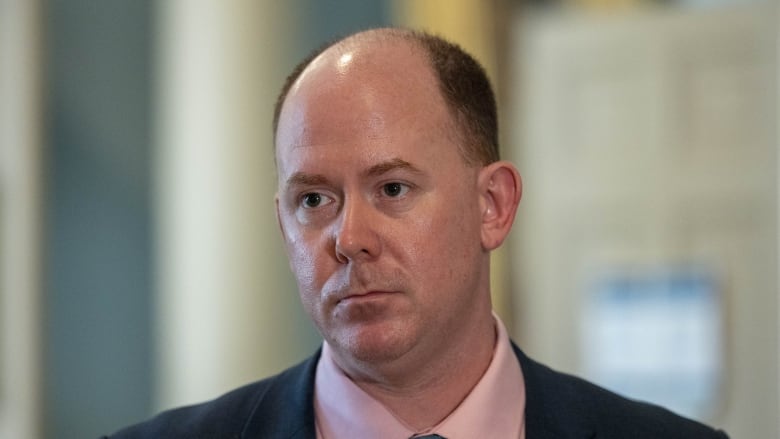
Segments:
[[[707,270],[601,275],[583,314],[586,374],[631,398],[702,418],[722,377],[722,309]]]

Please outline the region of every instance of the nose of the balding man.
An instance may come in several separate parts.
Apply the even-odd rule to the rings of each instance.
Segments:
[[[346,264],[379,256],[382,242],[375,213],[366,200],[350,199],[344,203],[334,234],[336,260]]]

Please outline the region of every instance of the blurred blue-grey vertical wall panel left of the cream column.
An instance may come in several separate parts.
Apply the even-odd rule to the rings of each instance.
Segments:
[[[151,405],[150,5],[44,2],[45,434]]]

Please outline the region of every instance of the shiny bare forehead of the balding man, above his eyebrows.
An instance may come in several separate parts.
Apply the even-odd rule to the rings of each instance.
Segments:
[[[275,147],[279,156],[314,142],[361,135],[370,141],[410,131],[449,136],[451,128],[420,48],[406,41],[348,41],[312,61],[290,88]]]

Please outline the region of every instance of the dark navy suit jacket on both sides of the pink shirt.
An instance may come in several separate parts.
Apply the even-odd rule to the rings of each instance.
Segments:
[[[527,439],[726,438],[723,432],[663,408],[555,372],[513,347],[525,378]],[[314,375],[319,356],[317,352],[277,376],[213,401],[163,412],[111,438],[314,439]]]

